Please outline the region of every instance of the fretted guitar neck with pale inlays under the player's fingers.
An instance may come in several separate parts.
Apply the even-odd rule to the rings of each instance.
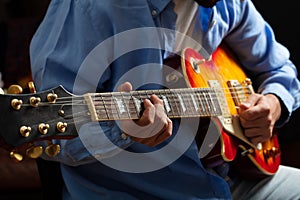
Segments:
[[[87,93],[84,98],[92,121],[138,119],[143,100],[152,94],[163,100],[170,118],[219,116],[222,114],[213,88],[140,90],[131,92]]]

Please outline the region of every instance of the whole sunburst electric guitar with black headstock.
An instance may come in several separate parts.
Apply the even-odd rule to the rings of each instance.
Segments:
[[[275,174],[280,165],[276,133],[267,142],[255,146],[244,136],[239,124],[237,108],[254,91],[229,49],[221,45],[207,60],[186,48],[177,63],[185,88],[77,96],[58,86],[29,94],[2,94],[0,146],[10,151],[11,157],[22,160],[18,151],[37,158],[43,149],[33,143],[47,140],[49,148],[45,151],[55,156],[60,147],[52,144],[51,139],[77,137],[77,128],[89,121],[138,119],[143,110],[142,100],[156,94],[163,99],[170,118],[201,117],[214,122],[220,136],[218,143],[202,158],[205,165],[231,162],[242,174],[255,178]],[[170,82],[178,78],[176,73],[167,77]]]

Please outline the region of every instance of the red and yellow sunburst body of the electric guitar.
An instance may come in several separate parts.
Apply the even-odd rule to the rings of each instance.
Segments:
[[[272,138],[255,146],[244,136],[239,124],[239,104],[254,91],[250,79],[228,47],[219,46],[208,61],[187,48],[182,54],[181,65],[187,85],[191,88],[214,88],[222,110],[222,115],[208,114],[219,131],[219,140],[205,155],[203,162],[207,166],[214,166],[220,161],[231,162],[248,178],[275,174],[280,165],[275,131]],[[209,148],[209,145],[204,148]]]

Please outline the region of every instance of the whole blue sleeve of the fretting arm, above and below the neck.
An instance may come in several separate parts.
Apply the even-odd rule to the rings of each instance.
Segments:
[[[109,3],[99,1],[97,4],[101,5],[94,8],[89,1],[70,0],[50,3],[30,44],[32,75],[38,91],[58,85],[76,95],[95,91],[96,83],[91,83],[90,88],[74,88],[74,82],[87,55],[113,34],[110,17],[106,12],[97,12],[105,10]],[[109,54],[108,50],[105,53]],[[89,83],[90,76],[85,78],[84,81]],[[110,78],[108,70],[101,80],[105,82]],[[80,128],[77,138],[53,140],[54,144],[60,145],[60,153],[55,157],[46,154],[42,157],[68,165],[81,165],[112,156],[131,144],[129,138],[122,138],[122,132],[114,122],[101,122],[101,129],[99,127],[98,122],[87,123]],[[39,143],[44,147],[48,145],[47,142]]]

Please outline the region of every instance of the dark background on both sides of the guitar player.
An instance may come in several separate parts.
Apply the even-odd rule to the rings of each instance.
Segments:
[[[31,80],[29,43],[50,0],[0,0],[0,71],[4,88],[12,84],[27,87]],[[300,71],[300,6],[281,0],[253,0],[276,39],[288,47],[291,60]],[[298,76],[299,77],[299,76]],[[0,83],[1,84],[1,83]],[[1,106],[1,105],[0,105]],[[1,107],[0,107],[1,109]],[[1,111],[1,110],[0,110]],[[300,111],[278,129],[282,163],[300,168]],[[49,168],[52,164],[47,165]],[[54,166],[55,167],[55,166]],[[51,174],[49,174],[49,177]],[[15,164],[0,149],[0,199],[40,199],[41,185],[35,161]],[[52,179],[49,184],[57,184]],[[48,184],[48,186],[49,186]]]

